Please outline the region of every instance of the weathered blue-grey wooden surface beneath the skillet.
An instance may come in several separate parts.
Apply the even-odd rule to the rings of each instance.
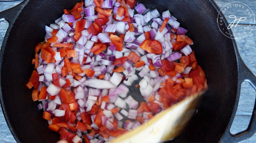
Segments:
[[[21,1],[8,1],[2,0],[0,1],[0,11],[6,10],[11,8]],[[222,8],[227,3],[234,2],[230,0],[215,0],[217,5]],[[243,2],[248,5],[251,10],[253,10],[254,15],[256,14],[256,0],[243,0],[239,1]],[[240,12],[240,11],[236,11]],[[255,15],[256,16],[256,15]],[[229,21],[230,22],[230,21]],[[243,22],[243,21],[242,21]],[[233,33],[240,33],[243,31],[243,27],[246,26],[248,23],[241,23],[240,29],[232,29]],[[0,23],[0,47],[2,45],[3,37],[6,33],[8,27],[8,22],[3,21]],[[254,27],[253,31],[242,39],[237,39],[236,44],[238,46],[239,53],[248,66],[248,68],[256,74],[256,27]],[[241,88],[241,95],[239,99],[238,109],[236,111],[235,119],[233,125],[230,129],[231,133],[237,133],[243,131],[247,128],[250,116],[253,110],[253,105],[255,101],[255,91],[247,82],[242,83]],[[2,109],[0,108],[0,143],[9,143],[9,142],[16,142],[13,138],[13,135],[10,133],[10,130],[6,124],[5,118],[3,117]],[[249,138],[243,143],[255,143],[256,142],[256,134],[253,137]]]

